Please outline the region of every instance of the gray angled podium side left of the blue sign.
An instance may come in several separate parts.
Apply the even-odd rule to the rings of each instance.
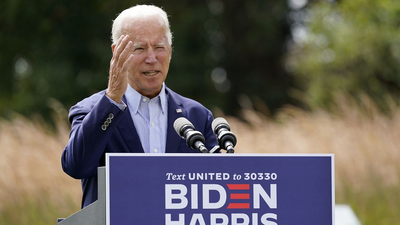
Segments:
[[[97,176],[97,201],[65,219],[57,219],[57,225],[106,225],[106,167],[98,167]]]

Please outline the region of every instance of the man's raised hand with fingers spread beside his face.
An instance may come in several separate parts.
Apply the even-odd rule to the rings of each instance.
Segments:
[[[112,53],[106,95],[116,103],[120,103],[128,88],[128,69],[134,58],[134,55],[130,54],[131,48],[132,41],[129,40],[129,35],[121,35]]]

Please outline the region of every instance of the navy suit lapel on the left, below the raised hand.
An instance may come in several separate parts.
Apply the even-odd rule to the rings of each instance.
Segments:
[[[125,96],[122,97],[122,101],[126,102]],[[132,116],[130,115],[128,107],[126,107],[126,111],[128,112],[124,113],[117,125],[118,130],[131,152],[144,153],[142,143],[140,142],[139,135],[136,132],[136,127],[132,121]]]

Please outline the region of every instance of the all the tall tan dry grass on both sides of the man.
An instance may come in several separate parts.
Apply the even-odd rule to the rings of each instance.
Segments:
[[[368,98],[360,106],[343,97],[333,113],[288,106],[274,120],[254,110],[226,119],[237,153],[334,153],[336,203],[351,204],[364,225],[400,224],[396,104],[385,114]],[[51,132],[45,124],[0,120],[0,224],[51,224],[80,208],[80,182],[60,165],[70,127],[58,119]]]

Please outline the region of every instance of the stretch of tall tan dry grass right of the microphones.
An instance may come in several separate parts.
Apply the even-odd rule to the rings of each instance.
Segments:
[[[400,108],[383,113],[366,96],[337,96],[332,112],[282,108],[275,120],[243,110],[227,117],[236,153],[334,153],[336,203],[364,225],[400,224]]]

